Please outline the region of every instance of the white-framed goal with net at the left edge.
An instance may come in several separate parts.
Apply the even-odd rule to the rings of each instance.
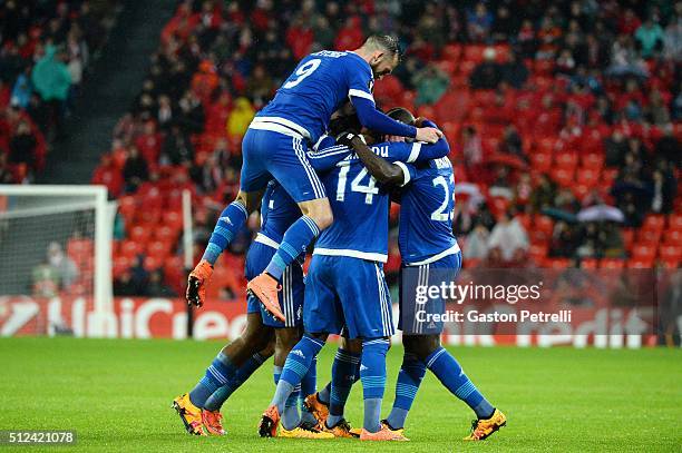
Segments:
[[[113,216],[101,186],[0,185],[0,335],[74,333],[55,301],[110,312]]]

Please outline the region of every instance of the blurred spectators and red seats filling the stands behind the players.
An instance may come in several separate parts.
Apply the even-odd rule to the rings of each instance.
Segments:
[[[2,183],[40,171],[116,8],[0,6]],[[254,114],[299,59],[371,33],[406,49],[378,104],[435,120],[454,149],[465,266],[678,268],[682,1],[179,1],[92,175],[120,206],[117,294],[183,292],[182,190],[201,253],[238,188]],[[214,296],[241,290],[257,225],[221,258]]]

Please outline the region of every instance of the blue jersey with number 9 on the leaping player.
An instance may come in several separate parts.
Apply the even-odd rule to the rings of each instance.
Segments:
[[[360,56],[323,50],[303,58],[256,117],[283,118],[293,129],[302,127],[299,131],[314,144],[349,97],[373,102],[373,83],[372,69]]]

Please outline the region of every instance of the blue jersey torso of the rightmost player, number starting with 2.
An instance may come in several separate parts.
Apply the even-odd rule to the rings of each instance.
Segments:
[[[447,157],[416,166],[400,191],[398,245],[406,265],[436,262],[459,252],[452,234],[455,175]]]

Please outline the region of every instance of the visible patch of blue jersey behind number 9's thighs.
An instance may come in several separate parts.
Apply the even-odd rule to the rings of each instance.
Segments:
[[[259,235],[279,244],[282,242],[284,232],[299,217],[301,217],[301,209],[284,190],[284,187],[274,179],[267,183],[261,201],[261,232]]]

